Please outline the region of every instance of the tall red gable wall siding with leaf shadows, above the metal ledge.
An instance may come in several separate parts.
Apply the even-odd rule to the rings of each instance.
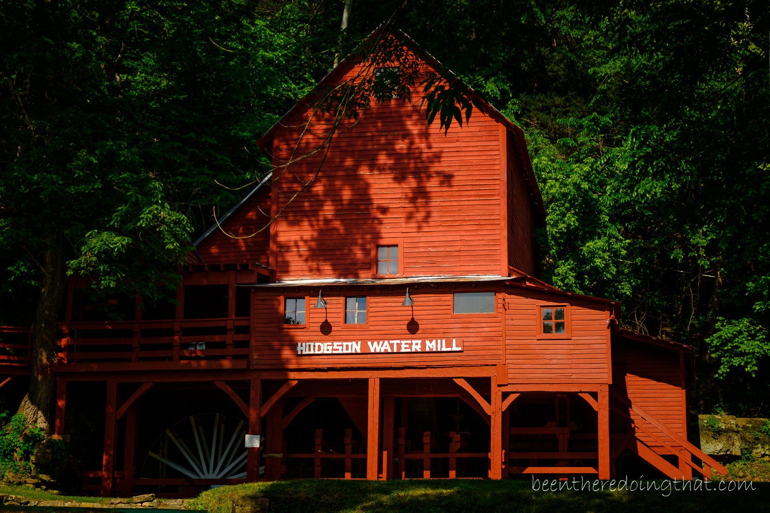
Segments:
[[[350,68],[337,78],[352,77]],[[310,155],[330,119],[298,112],[276,132],[274,163]],[[372,105],[328,153],[278,171],[276,278],[371,276],[372,246],[402,245],[403,275],[500,274],[500,128],[474,111],[445,135],[419,103]],[[299,141],[299,145],[297,142]],[[323,162],[323,165],[322,165]],[[320,169],[320,171],[319,171]],[[310,192],[292,195],[317,172]],[[288,206],[286,206],[288,204]],[[346,242],[345,249],[325,244]]]

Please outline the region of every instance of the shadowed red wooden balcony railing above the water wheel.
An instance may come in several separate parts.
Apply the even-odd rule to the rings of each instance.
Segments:
[[[249,355],[248,317],[58,326],[60,363],[232,360]]]

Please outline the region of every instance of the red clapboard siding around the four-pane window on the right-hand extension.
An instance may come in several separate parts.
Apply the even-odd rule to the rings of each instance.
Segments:
[[[506,359],[510,383],[606,383],[604,305],[584,299],[560,302],[551,295],[508,292]],[[567,304],[571,338],[537,339],[537,305]]]

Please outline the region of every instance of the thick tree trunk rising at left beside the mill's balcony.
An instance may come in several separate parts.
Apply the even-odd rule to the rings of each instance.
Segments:
[[[56,321],[67,290],[64,248],[53,241],[42,254],[43,282],[38,299],[35,322],[32,323],[29,388],[18,412],[27,418],[29,427],[37,426],[46,435],[53,432],[53,409],[56,398]]]

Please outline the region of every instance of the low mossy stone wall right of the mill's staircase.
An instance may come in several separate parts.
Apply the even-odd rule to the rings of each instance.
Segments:
[[[767,424],[766,418],[698,415],[701,451],[738,458],[751,453],[755,458],[770,460],[770,438],[762,432]]]

